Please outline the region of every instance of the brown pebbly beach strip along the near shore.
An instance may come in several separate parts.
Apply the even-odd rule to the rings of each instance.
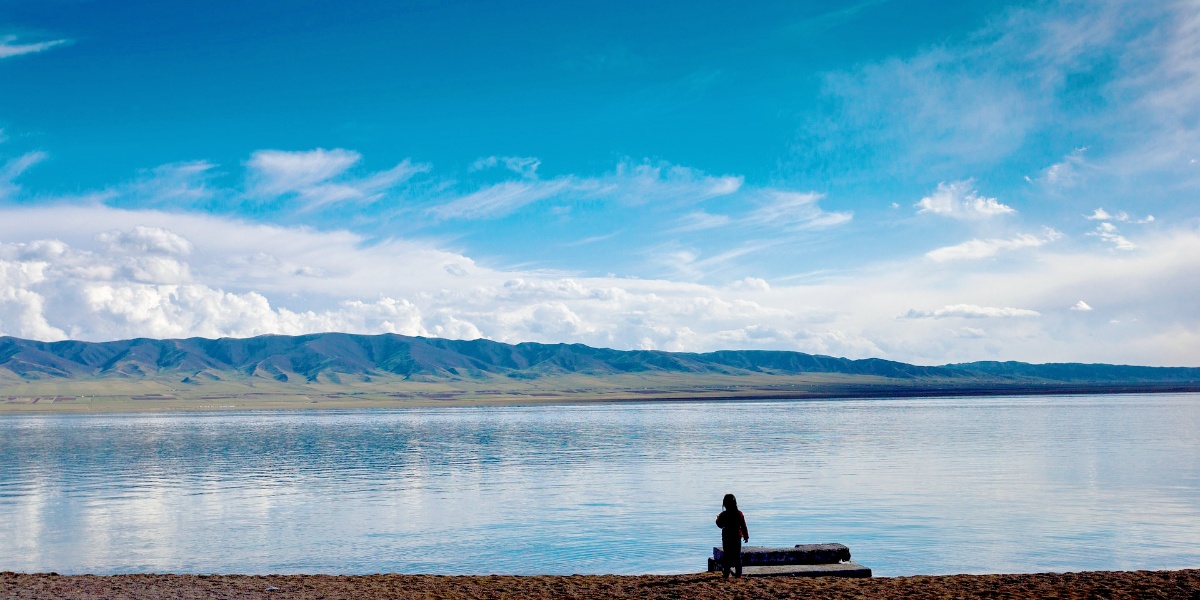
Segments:
[[[1180,599],[1200,600],[1200,569],[1034,575],[744,578],[700,575],[115,575],[0,574],[0,599]]]

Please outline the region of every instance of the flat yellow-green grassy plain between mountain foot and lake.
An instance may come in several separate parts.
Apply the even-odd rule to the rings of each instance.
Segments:
[[[430,380],[401,377],[347,379],[298,383],[242,376],[181,383],[178,378],[107,377],[34,380],[8,378],[0,379],[0,414],[1198,391],[1194,389],[1198,388],[1195,385],[1015,384],[974,379],[895,379],[838,373],[798,376],[641,373],[602,377],[562,374],[534,379],[503,376]]]

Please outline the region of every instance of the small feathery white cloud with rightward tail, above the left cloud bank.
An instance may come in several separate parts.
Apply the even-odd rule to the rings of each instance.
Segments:
[[[362,178],[346,176],[362,156],[352,150],[259,150],[251,155],[250,193],[254,197],[296,197],[314,209],[343,202],[374,202],[384,192],[430,170],[428,164],[402,161],[391,169]]]

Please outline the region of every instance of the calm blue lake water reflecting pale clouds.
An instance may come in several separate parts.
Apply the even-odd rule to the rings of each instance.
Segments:
[[[1200,566],[1200,395],[0,418],[0,570],[876,575]]]

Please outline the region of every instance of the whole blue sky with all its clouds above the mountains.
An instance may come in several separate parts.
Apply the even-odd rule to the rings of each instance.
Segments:
[[[1200,366],[1198,161],[1195,1],[0,0],[0,334]]]

